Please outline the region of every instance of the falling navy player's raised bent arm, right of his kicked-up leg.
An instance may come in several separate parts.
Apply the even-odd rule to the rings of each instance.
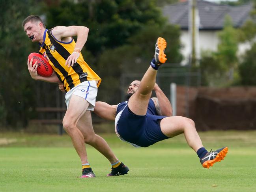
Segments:
[[[153,97],[151,99],[153,99],[155,103],[157,113],[162,116],[172,116],[172,105],[164,92],[159,88],[157,84],[155,84],[153,90],[155,91],[157,98]]]

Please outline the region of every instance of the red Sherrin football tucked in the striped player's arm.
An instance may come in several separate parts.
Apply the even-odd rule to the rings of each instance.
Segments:
[[[32,65],[34,65],[37,61],[37,73],[38,75],[49,77],[52,75],[52,66],[50,66],[50,63],[48,60],[39,53],[30,53],[28,56],[28,59],[31,60],[33,58]]]

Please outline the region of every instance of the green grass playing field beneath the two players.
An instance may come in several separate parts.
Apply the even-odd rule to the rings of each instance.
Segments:
[[[0,133],[0,192],[76,191],[256,191],[256,131],[200,132],[207,149],[228,146],[226,158],[202,168],[183,135],[147,148],[135,148],[103,134],[130,168],[106,177],[110,164],[88,146],[96,178],[79,178],[81,165],[67,135]]]

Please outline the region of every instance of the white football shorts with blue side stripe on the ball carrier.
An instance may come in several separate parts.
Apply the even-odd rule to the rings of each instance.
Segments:
[[[80,83],[78,86],[75,86],[74,88],[72,88],[71,90],[69,90],[66,93],[66,95],[65,95],[66,101],[65,102],[67,104],[67,108],[69,106],[69,101],[71,99],[71,96],[78,95],[78,96],[86,99],[86,101],[88,101],[90,103],[87,110],[93,111],[94,107],[95,107],[97,91],[98,91],[98,88],[97,88],[95,80],[84,81],[84,82]]]

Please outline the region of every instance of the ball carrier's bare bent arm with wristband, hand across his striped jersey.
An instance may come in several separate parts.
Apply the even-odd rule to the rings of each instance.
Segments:
[[[65,65],[73,66],[77,62],[80,52],[87,41],[89,29],[85,26],[57,26],[52,29],[52,35],[58,41],[70,42],[71,37],[77,36],[74,52],[67,58]]]

